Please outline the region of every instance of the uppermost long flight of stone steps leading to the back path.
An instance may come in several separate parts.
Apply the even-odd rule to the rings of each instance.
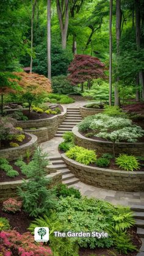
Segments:
[[[71,131],[81,120],[82,117],[79,108],[67,108],[67,117],[59,126],[55,137],[62,137],[65,131]]]

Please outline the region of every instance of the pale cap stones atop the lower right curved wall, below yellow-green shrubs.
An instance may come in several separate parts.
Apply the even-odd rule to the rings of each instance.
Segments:
[[[85,164],[78,163],[77,161],[74,161],[73,159],[68,158],[64,153],[61,155],[64,162],[68,162],[72,166],[80,166],[83,169],[87,169],[90,172],[95,172],[95,170],[98,170],[100,173],[104,172],[110,173],[110,174],[123,174],[126,175],[126,177],[133,177],[134,175],[139,176],[143,175],[144,178],[144,172],[143,171],[127,171],[127,170],[113,170],[113,169],[106,169],[106,168],[100,168],[100,167],[93,167],[93,166],[86,166]],[[102,174],[102,173],[101,173]]]

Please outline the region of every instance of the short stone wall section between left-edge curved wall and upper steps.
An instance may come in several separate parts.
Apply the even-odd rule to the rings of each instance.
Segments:
[[[34,130],[24,129],[24,131],[26,131],[26,133],[31,133],[31,134],[34,134],[35,136],[37,136],[38,143],[48,141],[48,128],[47,127],[41,127],[41,128],[34,129]]]

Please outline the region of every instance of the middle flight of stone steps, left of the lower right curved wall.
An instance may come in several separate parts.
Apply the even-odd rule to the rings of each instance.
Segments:
[[[62,172],[62,183],[67,184],[68,186],[73,185],[79,181],[78,178],[71,173],[71,171],[67,168],[66,164],[63,162],[62,158],[49,158],[51,165],[49,169],[52,172],[53,170],[60,170]]]

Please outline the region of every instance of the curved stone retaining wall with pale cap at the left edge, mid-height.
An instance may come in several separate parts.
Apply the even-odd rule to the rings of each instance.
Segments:
[[[26,144],[20,145],[20,147],[10,147],[0,150],[1,158],[7,158],[9,161],[18,159],[20,156],[26,156],[27,150],[29,150],[30,155],[34,152],[35,148],[37,147],[37,136],[34,134],[29,134],[31,136],[31,141],[27,142]]]

